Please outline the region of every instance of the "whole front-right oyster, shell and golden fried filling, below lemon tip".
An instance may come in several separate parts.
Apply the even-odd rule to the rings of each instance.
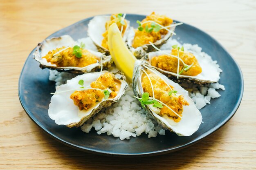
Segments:
[[[153,79],[154,77],[156,79]],[[151,79],[150,83],[145,79]],[[139,101],[142,99],[142,95],[148,92],[151,100],[158,99],[158,104],[163,104],[161,107],[156,107],[154,102],[142,107],[146,115],[155,119],[159,125],[179,136],[190,136],[198,130],[202,122],[202,115],[188,92],[179,84],[139,60],[135,62],[132,80],[133,92]],[[155,87],[154,90],[152,90],[152,86]],[[155,98],[152,97],[153,91]]]

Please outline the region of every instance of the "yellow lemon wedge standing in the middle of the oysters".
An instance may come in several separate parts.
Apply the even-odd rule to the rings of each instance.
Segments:
[[[133,67],[137,59],[124,43],[116,23],[108,29],[108,49],[117,68],[132,82]]]

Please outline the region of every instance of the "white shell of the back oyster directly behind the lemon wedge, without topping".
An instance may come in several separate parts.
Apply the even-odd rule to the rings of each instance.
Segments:
[[[105,53],[106,55],[109,54],[109,50],[105,49],[103,46],[101,46],[103,36],[102,34],[106,31],[105,24],[108,20],[110,20],[111,15],[100,15],[100,16],[95,16],[90,20],[88,24],[88,36],[92,39],[94,44],[97,46],[98,50],[101,53]],[[130,21],[126,20],[127,26],[126,30],[124,32],[123,40],[126,42],[127,39],[127,34],[128,34],[128,28],[130,26]]]

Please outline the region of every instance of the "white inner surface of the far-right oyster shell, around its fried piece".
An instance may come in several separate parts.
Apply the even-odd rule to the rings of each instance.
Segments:
[[[171,54],[170,50],[163,50],[163,51],[155,51],[155,52],[150,52],[148,53],[148,63],[151,65],[151,59],[153,57],[159,56],[159,55],[164,55],[164,53]],[[206,81],[211,81],[211,82],[218,82],[220,79],[220,71],[219,68],[216,66],[216,63],[211,60],[211,58],[206,58],[203,57],[202,55],[197,55],[194,54],[195,57],[197,58],[201,68],[202,68],[202,73],[196,75],[196,76],[189,76],[189,75],[179,75],[179,77],[190,77],[190,78],[196,78],[196,79],[201,79],[201,80],[206,80]],[[158,68],[160,69],[160,68]],[[162,69],[161,69],[162,70]],[[164,71],[164,70],[162,70]],[[168,72],[168,71],[165,71]],[[169,72],[170,73],[170,72]],[[173,75],[177,76],[177,73],[172,73]]]

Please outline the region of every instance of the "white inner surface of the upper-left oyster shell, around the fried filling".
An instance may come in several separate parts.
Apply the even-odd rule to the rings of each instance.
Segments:
[[[40,64],[42,64],[44,66],[52,66],[52,67],[61,68],[61,69],[64,69],[64,70],[69,70],[69,69],[91,70],[92,68],[95,68],[95,67],[100,65],[99,62],[97,62],[97,63],[90,64],[90,65],[85,66],[85,67],[57,67],[56,64],[52,64],[50,62],[47,62],[47,60],[45,58],[42,58],[49,51],[60,48],[62,46],[67,47],[67,46],[74,46],[74,45],[79,45],[79,44],[77,44],[77,42],[75,42],[70,37],[70,35],[63,35],[63,36],[58,37],[58,38],[47,39],[47,40],[42,42],[42,45],[40,46],[40,50],[37,49],[36,52],[34,53],[35,60],[40,62]],[[93,55],[95,55],[96,57],[98,57],[98,60],[100,60],[100,57],[103,56],[103,54],[100,53],[100,52],[92,51],[90,49],[87,49],[87,50],[90,53],[92,53]],[[111,57],[109,57],[109,60],[111,60]]]

